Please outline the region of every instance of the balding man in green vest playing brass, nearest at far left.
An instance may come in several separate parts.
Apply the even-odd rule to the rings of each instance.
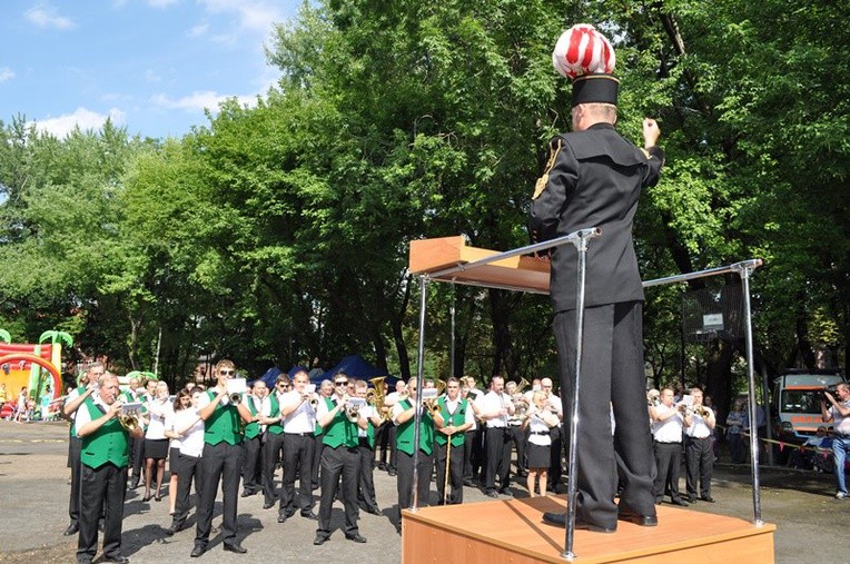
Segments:
[[[127,492],[127,464],[130,461],[129,432],[121,426],[118,377],[103,374],[97,380],[97,395],[86,394],[77,412],[80,451],[80,535],[77,562],[91,562],[98,547],[98,515],[106,505],[103,555],[110,562],[127,563],[121,554],[121,522]],[[132,431],[141,438],[141,427]]]

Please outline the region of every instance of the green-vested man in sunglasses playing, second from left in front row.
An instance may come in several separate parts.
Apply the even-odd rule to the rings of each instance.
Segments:
[[[244,554],[248,552],[236,540],[236,511],[239,501],[239,474],[241,472],[241,422],[251,422],[251,414],[245,405],[245,395],[234,402],[227,392],[227,382],[236,376],[233,360],[216,364],[215,388],[205,393],[198,403],[200,418],[204,419],[204,454],[200,462],[200,501],[198,502],[198,525],[195,547],[189,554],[197,558],[207,550],[212,524],[212,508],[216,493],[221,484],[223,511],[221,536],[225,551]]]

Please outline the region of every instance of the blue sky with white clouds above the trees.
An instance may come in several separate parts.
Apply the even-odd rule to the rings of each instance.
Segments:
[[[0,2],[0,120],[57,137],[107,117],[130,135],[180,137],[226,97],[250,103],[277,81],[273,26],[302,0]]]

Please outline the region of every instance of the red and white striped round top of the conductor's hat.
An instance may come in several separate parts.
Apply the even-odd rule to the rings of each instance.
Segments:
[[[564,31],[552,51],[552,65],[562,76],[611,75],[616,56],[609,40],[590,23],[577,23]]]

